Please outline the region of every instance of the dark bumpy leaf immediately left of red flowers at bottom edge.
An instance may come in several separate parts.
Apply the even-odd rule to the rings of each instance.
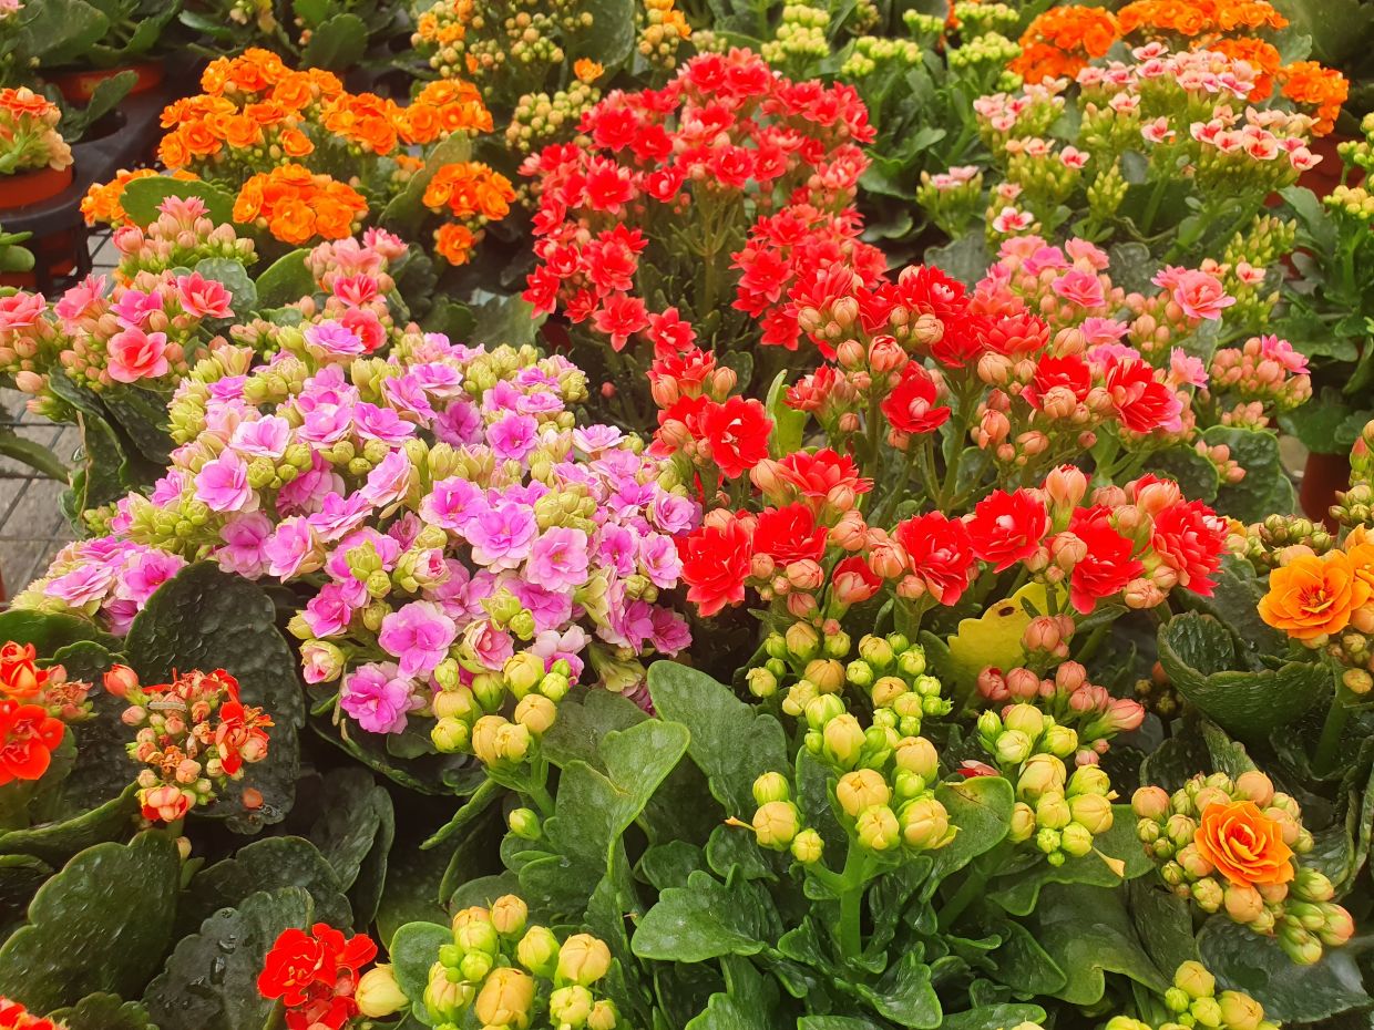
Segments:
[[[159,1030],[264,1030],[278,1003],[258,993],[262,961],[283,931],[312,922],[301,887],[258,891],[220,909],[177,943],[143,1004]]]

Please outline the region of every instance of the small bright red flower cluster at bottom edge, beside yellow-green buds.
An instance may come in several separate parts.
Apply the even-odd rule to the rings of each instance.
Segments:
[[[309,934],[291,927],[267,953],[258,993],[282,1000],[287,1030],[341,1030],[359,1014],[359,971],[375,957],[376,943],[365,934],[345,938],[328,923]]]

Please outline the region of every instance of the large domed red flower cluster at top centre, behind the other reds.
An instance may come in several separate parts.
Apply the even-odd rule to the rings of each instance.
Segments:
[[[589,147],[552,146],[522,169],[540,202],[525,299],[537,312],[562,305],[617,352],[640,335],[657,353],[691,342],[680,309],[653,310],[640,282],[646,269],[666,282],[684,247],[697,250],[686,275],[703,276],[698,309],[684,304],[703,319],[725,302],[717,249],[747,233],[734,254],[734,308],[760,321],[765,345],[790,349],[787,294],[800,276],[838,264],[871,280],[882,269],[852,207],[867,166],[859,144],[874,137],[852,87],[794,82],[743,49],[703,54],[662,89],[610,93],[581,130]]]

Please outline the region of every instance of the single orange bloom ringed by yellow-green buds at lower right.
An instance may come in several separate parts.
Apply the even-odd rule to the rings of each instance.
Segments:
[[[1264,773],[1198,773],[1172,795],[1142,787],[1131,808],[1160,878],[1202,912],[1224,911],[1256,934],[1276,935],[1300,964],[1353,934],[1351,915],[1331,901],[1331,882],[1300,861],[1314,842],[1297,801]]]

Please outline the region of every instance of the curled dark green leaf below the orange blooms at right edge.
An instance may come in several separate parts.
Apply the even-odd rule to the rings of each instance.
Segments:
[[[1331,692],[1331,673],[1322,662],[1235,669],[1231,633],[1210,615],[1176,615],[1160,626],[1158,637],[1160,665],[1178,692],[1223,729],[1248,740],[1296,722]]]

